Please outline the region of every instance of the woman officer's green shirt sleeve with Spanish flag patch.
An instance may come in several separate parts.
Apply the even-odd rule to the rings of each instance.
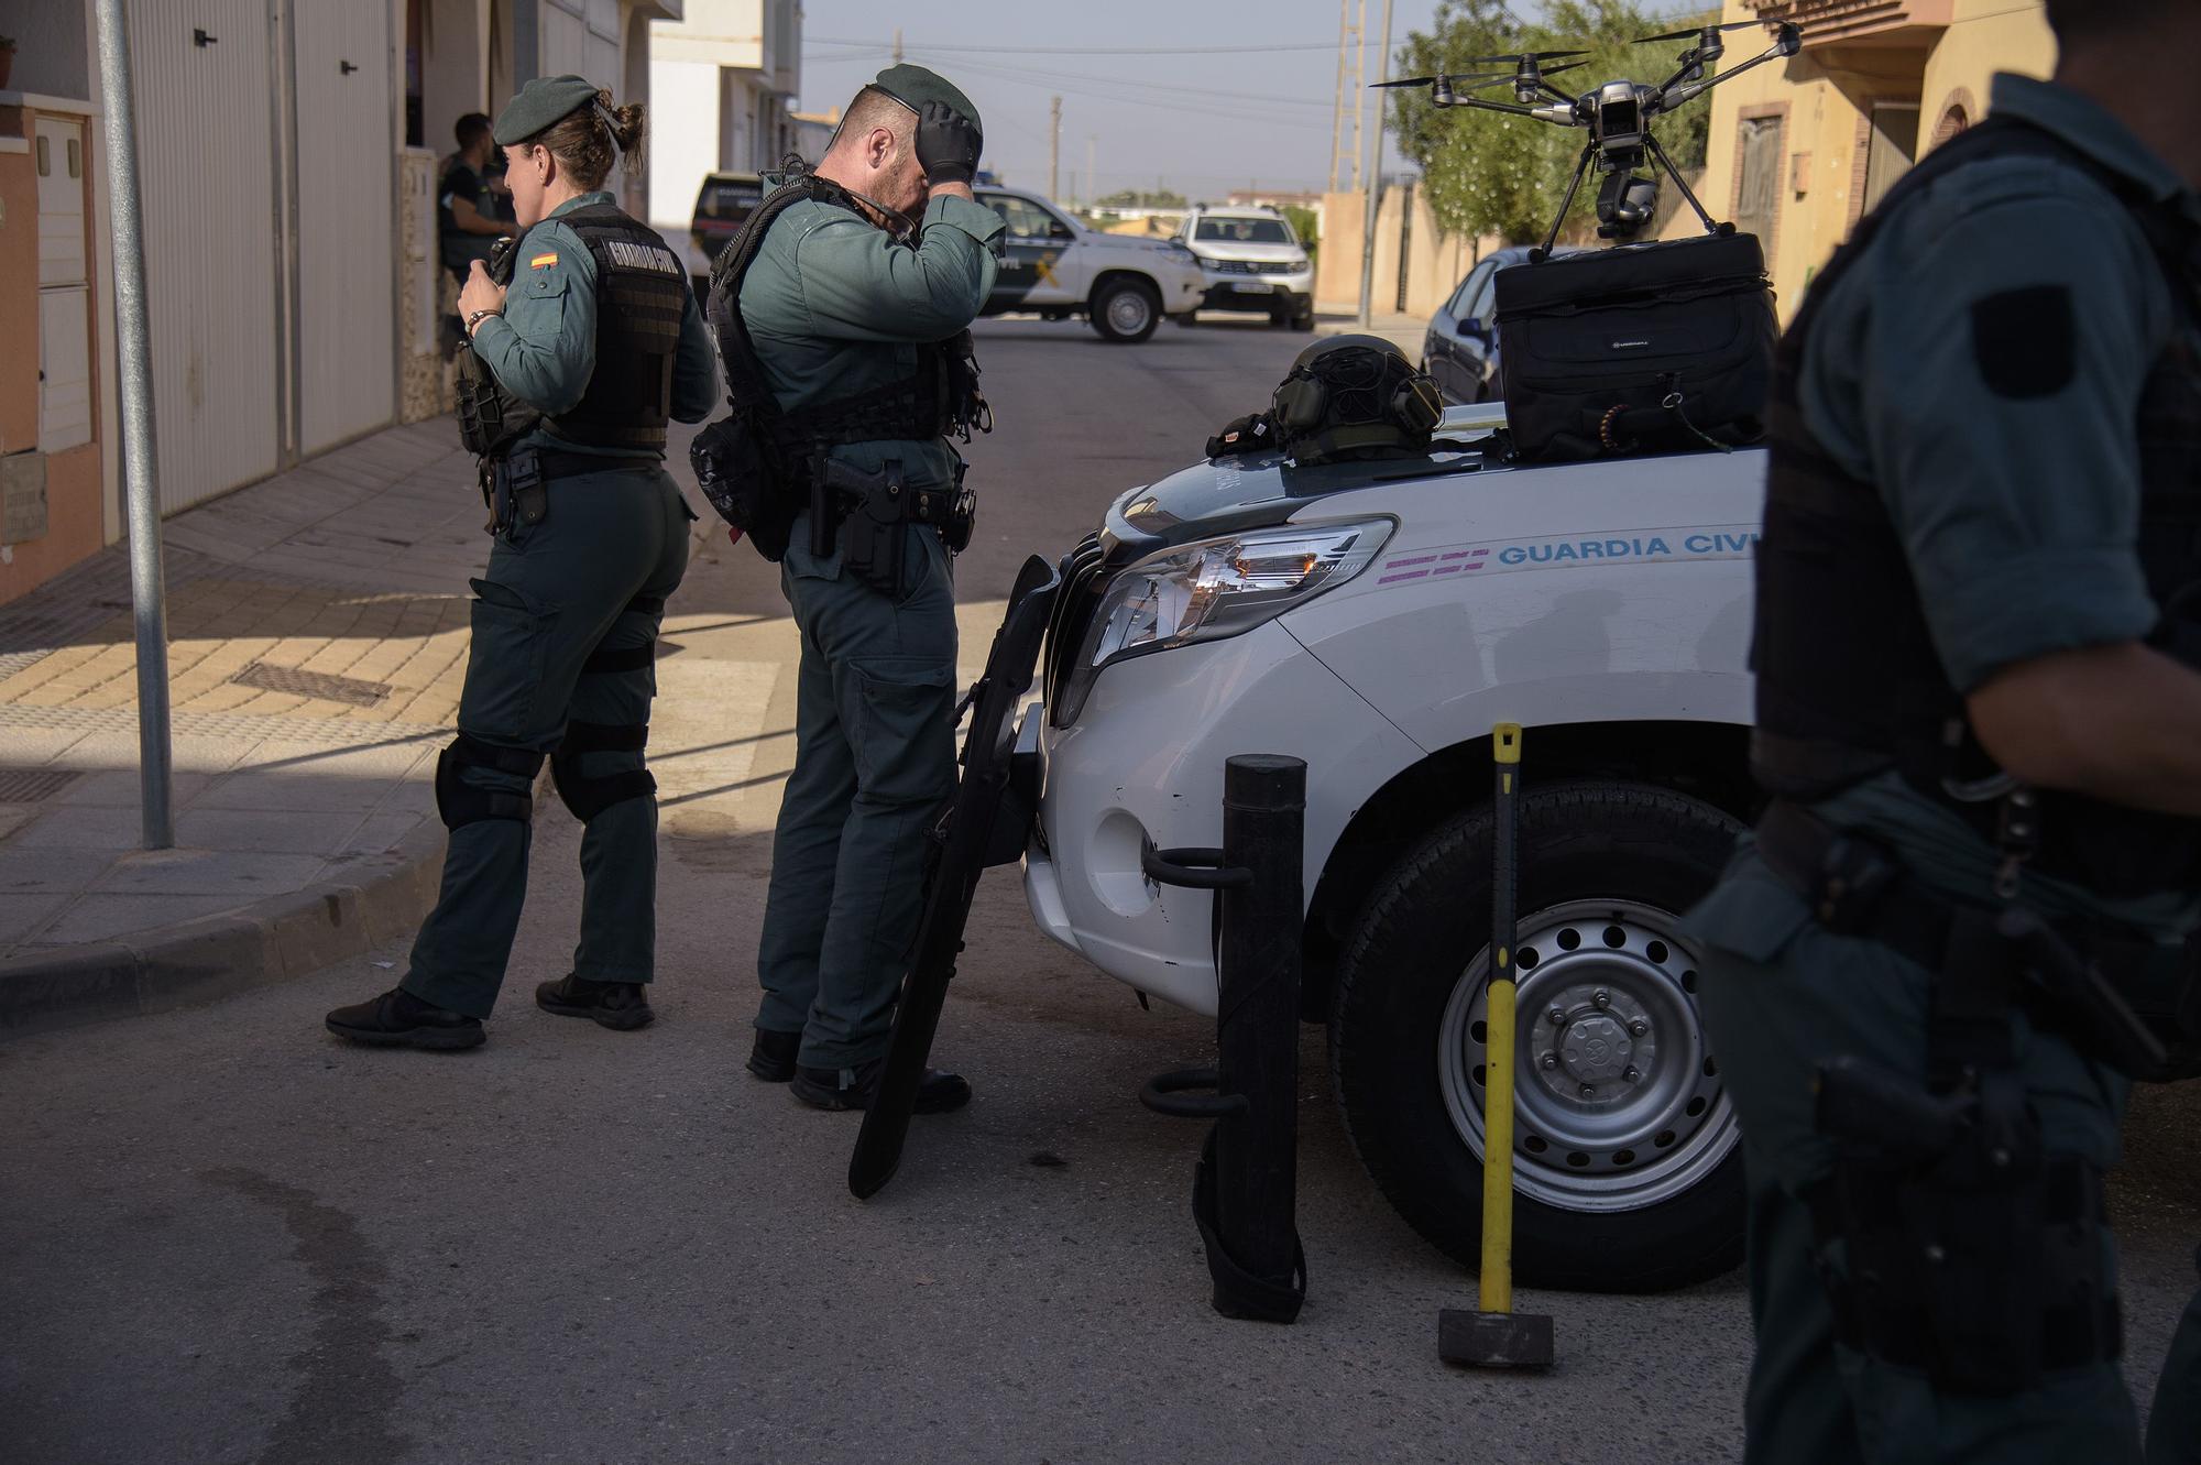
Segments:
[[[546,416],[572,411],[596,370],[596,262],[550,220],[519,240],[504,317],[473,332],[497,385]]]

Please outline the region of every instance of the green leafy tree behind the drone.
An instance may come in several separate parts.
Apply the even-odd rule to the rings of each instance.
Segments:
[[[1516,51],[1589,51],[1580,70],[1554,77],[1552,86],[1583,95],[1605,81],[1631,79],[1660,84],[1675,70],[1686,42],[1635,46],[1638,35],[1679,31],[1688,24],[1719,20],[1719,11],[1649,13],[1631,0],[1547,0],[1538,22],[1512,13],[1505,0],[1439,0],[1431,29],[1413,31],[1400,46],[1393,66],[1398,75],[1488,73],[1505,66],[1472,64],[1468,57]],[[1732,37],[1737,51],[1750,44],[1750,33]],[[1554,62],[1563,66],[1567,62]],[[1510,103],[1512,88],[1475,92],[1483,101]],[[1704,143],[1710,132],[1710,101],[1695,101],[1657,121],[1657,141],[1686,172],[1704,167]],[[1508,242],[1541,242],[1567,194],[1576,158],[1589,134],[1580,128],[1554,128],[1530,117],[1503,117],[1475,108],[1439,110],[1426,88],[1391,92],[1391,128],[1398,150],[1420,165],[1422,187],[1437,222],[1455,233],[1497,233]],[[1567,235],[1583,238],[1596,229],[1596,187],[1591,169],[1583,194],[1567,213]],[[1671,183],[1662,183],[1671,189]],[[1686,207],[1686,205],[1684,205]]]

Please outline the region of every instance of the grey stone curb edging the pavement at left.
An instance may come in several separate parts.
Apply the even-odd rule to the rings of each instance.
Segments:
[[[445,834],[425,818],[354,880],[0,961],[0,1040],[211,1003],[403,939],[436,904]]]

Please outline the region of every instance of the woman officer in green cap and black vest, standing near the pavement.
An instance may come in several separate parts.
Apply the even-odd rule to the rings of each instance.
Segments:
[[[643,110],[581,77],[528,81],[497,117],[522,238],[500,279],[460,293],[471,350],[460,433],[482,460],[489,570],[458,737],[436,763],[451,829],[442,895],[405,979],[328,1014],[339,1038],[482,1043],[528,882],[535,774],[583,820],[581,946],[535,1001],[629,1029],[651,1018],[656,781],[643,765],[658,620],[693,519],[665,473],[665,422],[718,389],[680,257],[603,180],[643,143]]]

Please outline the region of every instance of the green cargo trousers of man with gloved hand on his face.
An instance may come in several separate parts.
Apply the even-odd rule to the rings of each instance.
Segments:
[[[773,836],[757,944],[757,1027],[801,1032],[797,1062],[887,1051],[916,941],[927,831],[955,794],[955,583],[940,535],[911,526],[900,603],[810,554],[779,565],[801,631],[795,772]]]

